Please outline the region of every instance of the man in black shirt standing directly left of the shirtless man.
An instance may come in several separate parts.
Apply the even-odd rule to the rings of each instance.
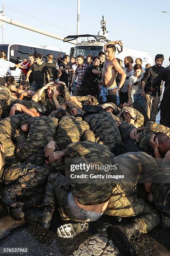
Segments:
[[[82,92],[80,96],[92,95],[97,97],[97,82],[98,75],[101,75],[101,71],[98,70],[100,65],[100,59],[98,56],[92,58],[92,65],[87,67],[85,73],[82,76]]]

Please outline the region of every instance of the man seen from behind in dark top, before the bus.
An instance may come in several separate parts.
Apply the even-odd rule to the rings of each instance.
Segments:
[[[50,82],[54,82],[58,77],[61,76],[61,70],[57,67],[57,64],[53,62],[53,55],[48,54],[48,61],[46,62],[47,71],[50,76]]]

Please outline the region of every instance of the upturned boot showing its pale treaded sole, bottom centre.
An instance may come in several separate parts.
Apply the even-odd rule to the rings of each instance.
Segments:
[[[57,236],[61,238],[73,238],[89,229],[88,222],[71,222],[60,225],[57,228]]]

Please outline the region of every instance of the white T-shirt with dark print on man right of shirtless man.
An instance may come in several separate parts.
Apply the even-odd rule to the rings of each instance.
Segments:
[[[128,80],[128,84],[132,85],[131,94],[141,94],[142,93],[142,80],[143,73],[140,74],[140,77],[131,75]]]

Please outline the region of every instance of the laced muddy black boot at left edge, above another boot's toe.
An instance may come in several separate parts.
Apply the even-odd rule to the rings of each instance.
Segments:
[[[5,187],[0,191],[0,198],[6,205],[16,207],[17,202],[15,197],[18,196],[22,190],[23,188],[21,184],[19,182],[15,182],[15,184]]]

